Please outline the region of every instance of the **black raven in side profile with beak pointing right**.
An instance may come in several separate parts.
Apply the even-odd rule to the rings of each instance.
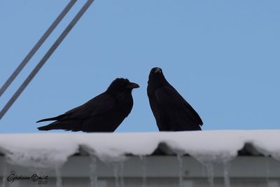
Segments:
[[[38,120],[37,123],[55,120],[38,130],[113,132],[132,110],[133,88],[139,88],[139,85],[125,78],[116,78],[105,92],[85,104],[60,116]]]

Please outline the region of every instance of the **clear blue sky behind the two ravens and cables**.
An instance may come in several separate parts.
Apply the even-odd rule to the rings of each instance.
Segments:
[[[84,2],[0,98],[1,108]],[[67,3],[0,1],[0,85]],[[146,95],[152,67],[162,67],[203,130],[279,129],[279,7],[278,0],[96,0],[0,121],[0,132],[38,132],[47,123],[36,120],[83,104],[117,77],[141,86],[117,132],[158,131]]]

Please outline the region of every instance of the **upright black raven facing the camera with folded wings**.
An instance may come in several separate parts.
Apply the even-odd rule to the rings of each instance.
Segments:
[[[160,131],[201,130],[202,119],[167,82],[159,67],[151,69],[147,93]]]

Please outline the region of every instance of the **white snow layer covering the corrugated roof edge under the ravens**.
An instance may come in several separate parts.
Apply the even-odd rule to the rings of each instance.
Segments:
[[[57,168],[79,147],[104,162],[120,162],[127,153],[151,155],[165,143],[178,155],[189,154],[204,165],[225,163],[244,144],[280,160],[280,130],[212,130],[201,132],[0,134],[0,152],[10,164]]]

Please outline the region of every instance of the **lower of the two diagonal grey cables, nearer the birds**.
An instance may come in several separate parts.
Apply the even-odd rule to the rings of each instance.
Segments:
[[[30,81],[34,78],[34,76],[36,76],[36,74],[38,73],[38,71],[41,69],[41,67],[43,67],[43,64],[45,64],[45,62],[48,60],[48,58],[50,57],[50,55],[52,55],[52,53],[56,50],[56,48],[59,46],[60,43],[62,43],[63,39],[67,36],[67,34],[71,31],[71,29],[76,25],[76,23],[78,22],[78,20],[80,19],[80,17],[82,17],[82,15],[85,13],[85,11],[87,11],[87,8],[90,7],[90,5],[92,4],[94,0],[87,0],[87,2],[85,3],[85,5],[80,9],[80,11],[78,11],[78,13],[76,14],[75,18],[73,18],[73,20],[71,20],[71,22],[69,23],[69,25],[66,27],[66,29],[64,29],[64,31],[62,32],[62,34],[60,34],[60,36],[58,37],[58,39],[55,41],[55,43],[52,44],[52,46],[50,47],[50,49],[48,50],[47,53],[45,53],[45,55],[43,56],[43,58],[41,59],[40,62],[38,62],[38,64],[36,65],[36,67],[33,69],[33,71],[31,71],[31,73],[29,74],[29,76],[25,79],[25,81],[22,83],[22,85],[20,85],[20,88],[18,88],[18,90],[15,92],[15,94],[13,95],[13,97],[10,98],[10,100],[8,101],[8,103],[4,106],[4,108],[1,110],[0,112],[0,120],[1,118],[5,115],[5,113],[8,111],[8,109],[10,109],[10,106],[12,106],[12,104],[15,102],[16,99],[18,99],[18,97],[20,96],[20,94],[22,93],[23,90],[25,90],[25,88],[27,87],[27,85],[30,83]]]

